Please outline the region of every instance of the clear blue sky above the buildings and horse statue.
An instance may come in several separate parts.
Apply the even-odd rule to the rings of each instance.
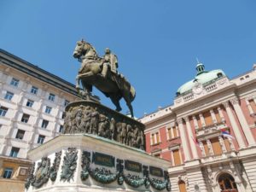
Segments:
[[[2,0],[0,48],[74,84],[76,42],[84,38],[99,55],[109,47],[137,90],[133,106],[141,117],[172,104],[177,88],[195,77],[196,57],[230,78],[250,70],[255,10],[253,0]]]

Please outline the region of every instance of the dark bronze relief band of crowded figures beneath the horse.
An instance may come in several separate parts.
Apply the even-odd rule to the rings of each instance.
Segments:
[[[73,102],[66,108],[64,134],[88,133],[145,149],[144,125],[96,102]]]

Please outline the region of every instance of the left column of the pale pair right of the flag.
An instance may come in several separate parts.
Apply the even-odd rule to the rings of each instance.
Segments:
[[[236,125],[236,119],[230,109],[230,103],[229,102],[224,102],[223,103],[224,108],[226,109],[229,119],[230,119],[230,124],[234,130],[235,136],[236,136],[236,141],[239,145],[240,148],[244,148],[245,147],[245,143],[243,141],[243,139],[241,138],[241,132],[239,131],[238,126]]]

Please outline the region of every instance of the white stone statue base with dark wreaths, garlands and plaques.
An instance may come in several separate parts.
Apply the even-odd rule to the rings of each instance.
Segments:
[[[27,192],[167,191],[170,162],[108,138],[66,134],[29,151]]]

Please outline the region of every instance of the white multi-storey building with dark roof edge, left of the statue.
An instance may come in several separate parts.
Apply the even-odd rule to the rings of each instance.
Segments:
[[[60,134],[73,84],[0,49],[0,187],[24,191],[27,152]]]

